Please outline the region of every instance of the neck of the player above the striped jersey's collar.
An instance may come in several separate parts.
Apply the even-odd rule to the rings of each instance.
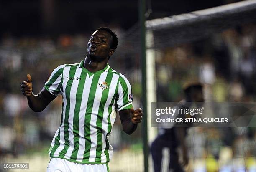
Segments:
[[[107,66],[108,58],[103,61],[93,61],[89,56],[85,57],[84,60],[84,68],[86,68],[90,72],[97,72],[104,69]]]

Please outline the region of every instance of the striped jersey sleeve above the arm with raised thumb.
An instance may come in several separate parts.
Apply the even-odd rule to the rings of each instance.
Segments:
[[[63,82],[64,67],[65,65],[60,65],[55,68],[44,85],[44,88],[54,96],[57,96],[61,92],[60,86]]]

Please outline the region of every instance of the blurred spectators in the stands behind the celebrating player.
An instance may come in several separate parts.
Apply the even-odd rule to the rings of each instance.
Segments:
[[[110,66],[131,82],[134,106],[141,106],[140,64],[125,45],[122,30],[115,28],[120,42],[127,46],[125,56],[117,52]],[[35,114],[20,93],[20,84],[30,73],[33,92],[38,93],[56,66],[79,63],[91,33],[61,35],[59,38],[14,38],[0,40],[0,159],[47,149],[61,114],[61,96],[43,112]],[[120,49],[119,51],[123,51]],[[192,79],[205,86],[205,100],[217,102],[254,102],[256,100],[256,24],[230,28],[204,40],[156,49],[157,101],[178,102],[183,98],[182,85]],[[140,129],[126,136],[116,119],[110,143],[116,152],[141,150]],[[192,128],[187,137],[190,171],[256,171],[256,132],[254,128]],[[141,151],[142,154],[142,151]],[[131,156],[131,154],[129,154]],[[136,152],[132,154],[137,157]],[[123,159],[127,157],[122,157]],[[219,160],[219,161],[218,161]],[[118,161],[116,162],[118,163]],[[193,164],[193,165],[192,165]],[[141,160],[141,166],[143,162]],[[130,168],[130,169],[129,169]],[[111,169],[111,166],[110,166]],[[143,169],[143,167],[141,167]],[[128,167],[125,171],[141,171]],[[124,170],[124,169],[123,169]],[[115,171],[113,169],[112,171]],[[121,172],[122,169],[116,169]]]

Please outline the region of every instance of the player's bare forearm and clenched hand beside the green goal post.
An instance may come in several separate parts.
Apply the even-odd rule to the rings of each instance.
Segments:
[[[141,108],[136,110],[131,108],[119,111],[119,115],[123,126],[123,131],[127,134],[132,134],[137,129],[138,124],[141,122],[143,113]]]

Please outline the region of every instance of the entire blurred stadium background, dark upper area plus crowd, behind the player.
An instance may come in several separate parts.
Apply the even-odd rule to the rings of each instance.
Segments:
[[[147,20],[234,2],[151,0],[146,4]],[[29,171],[45,171],[47,151],[59,127],[61,97],[34,113],[20,93],[21,81],[30,73],[33,92],[38,93],[56,66],[82,61],[91,33],[100,26],[117,33],[119,47],[110,66],[131,82],[134,107],[142,106],[137,1],[11,0],[1,2],[0,9],[4,26],[0,28],[0,162],[29,163]],[[186,43],[158,45],[155,78],[151,78],[156,81],[156,100],[180,101],[182,85],[195,78],[205,82],[207,101],[254,102],[255,43],[253,20]],[[110,137],[112,172],[143,171],[143,132],[140,126],[126,135],[117,117]],[[188,171],[256,171],[255,137],[254,128],[190,129]]]

